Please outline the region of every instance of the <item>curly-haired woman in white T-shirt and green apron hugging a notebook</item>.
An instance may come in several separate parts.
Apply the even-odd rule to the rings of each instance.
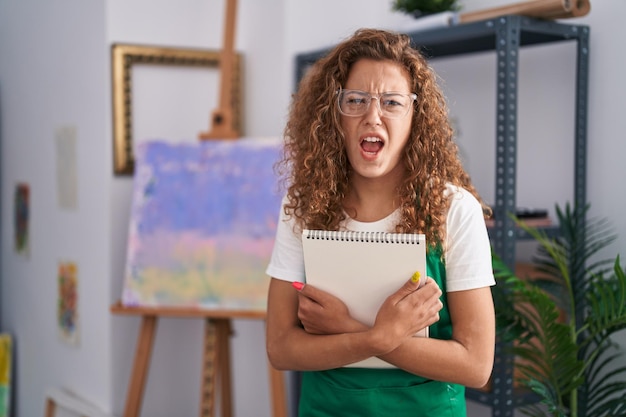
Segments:
[[[305,371],[301,417],[464,416],[464,386],[489,379],[487,207],[447,116],[426,60],[406,35],[382,30],[339,44],[294,96],[281,165],[287,194],[267,269],[267,353],[277,369]],[[429,278],[418,289],[407,277],[365,326],[305,284],[304,228],[424,233]],[[430,337],[413,337],[426,326]],[[392,366],[346,367],[372,356]]]

